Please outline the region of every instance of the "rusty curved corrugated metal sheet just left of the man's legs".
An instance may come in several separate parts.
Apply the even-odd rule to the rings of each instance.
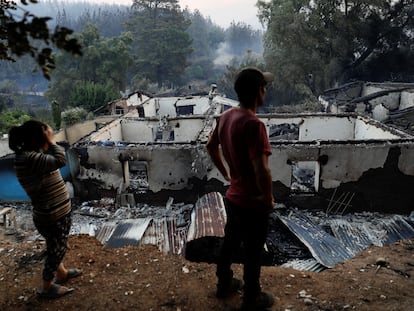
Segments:
[[[223,197],[218,192],[208,193],[197,201],[191,213],[187,242],[207,236],[224,237],[225,224]]]

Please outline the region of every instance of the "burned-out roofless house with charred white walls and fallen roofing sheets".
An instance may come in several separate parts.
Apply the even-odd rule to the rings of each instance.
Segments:
[[[123,114],[101,116],[58,134],[67,145],[68,167],[62,175],[73,199],[110,197],[120,209],[144,203],[165,206],[174,198],[184,205],[167,204],[161,217],[135,214],[117,219],[96,236],[112,247],[152,243],[164,251],[186,253],[191,260],[214,261],[211,254],[225,222],[221,196],[227,183],[205,144],[219,115],[237,102],[218,94],[134,98],[135,104],[124,99]],[[107,111],[120,111],[121,104],[111,107]],[[319,268],[330,267],[372,243],[414,236],[409,219],[394,217],[412,211],[414,136],[355,112],[258,116],[269,134],[274,194],[282,206],[272,221],[287,232],[283,238],[271,232],[268,263],[275,263],[281,249],[289,248],[286,252],[296,257],[316,258]],[[2,175],[7,172],[8,178],[12,158],[8,154],[1,159]],[[2,180],[0,199],[10,201],[6,193],[12,191],[12,183]],[[325,221],[330,216],[330,232],[320,235],[327,223],[316,224],[308,211],[322,213]],[[346,215],[366,212],[393,214],[381,221],[383,230],[406,231],[379,239],[360,226],[364,228],[358,236],[363,238],[357,243],[351,245],[354,239],[349,236],[341,241],[344,231],[352,231],[346,229]],[[298,242],[306,247],[292,250]],[[201,253],[203,248],[206,253]]]

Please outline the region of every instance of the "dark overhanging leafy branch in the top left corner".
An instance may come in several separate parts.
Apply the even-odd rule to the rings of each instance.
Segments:
[[[37,3],[37,0],[29,0]],[[26,6],[28,2],[21,0]],[[15,14],[15,13],[19,14]],[[52,32],[47,23],[50,17],[37,17],[14,1],[2,0],[0,5],[0,59],[15,61],[16,57],[30,55],[42,69],[45,78],[55,68],[51,46],[81,54],[81,46],[71,38],[72,30],[56,26]]]

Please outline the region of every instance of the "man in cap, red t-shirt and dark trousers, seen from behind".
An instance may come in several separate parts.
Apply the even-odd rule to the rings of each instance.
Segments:
[[[261,256],[274,201],[268,164],[271,149],[265,125],[256,116],[257,108],[264,103],[266,84],[272,79],[271,73],[254,67],[241,70],[234,83],[240,107],[221,115],[207,143],[213,163],[230,181],[225,196],[227,223],[217,262],[216,296],[227,297],[241,289],[242,281],[233,278],[231,264],[232,255],[243,243],[242,310],[266,309],[274,302],[273,296],[261,291],[260,286]]]

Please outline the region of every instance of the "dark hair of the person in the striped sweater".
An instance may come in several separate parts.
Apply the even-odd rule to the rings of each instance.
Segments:
[[[47,142],[44,133],[47,127],[46,123],[36,120],[12,127],[9,131],[9,148],[16,153],[38,151]]]

